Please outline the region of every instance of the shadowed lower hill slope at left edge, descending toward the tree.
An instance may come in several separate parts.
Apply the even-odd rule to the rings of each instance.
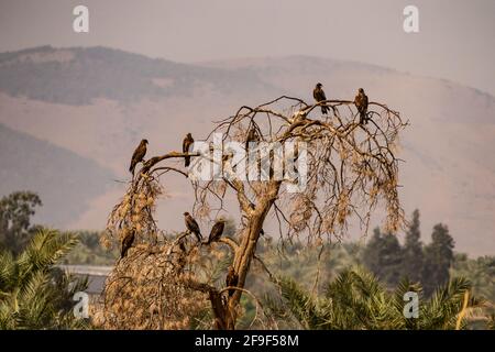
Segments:
[[[0,124],[0,196],[37,193],[43,207],[36,221],[62,226],[75,220],[89,201],[108,190],[112,173],[74,152]]]

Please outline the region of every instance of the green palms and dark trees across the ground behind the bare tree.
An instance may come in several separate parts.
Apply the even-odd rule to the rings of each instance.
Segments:
[[[87,280],[55,265],[113,265],[119,253],[102,249],[99,232],[61,233],[32,224],[37,206],[41,199],[32,193],[0,200],[0,329],[88,328],[72,310],[74,294],[85,290]],[[226,233],[235,237],[234,230],[230,219]],[[460,328],[495,329],[495,256],[454,253],[442,224],[433,228],[429,244],[421,243],[419,211],[413,215],[404,245],[378,229],[366,245],[311,248],[270,237],[258,245],[260,257],[278,279],[266,279],[255,264],[246,288],[264,297],[265,312],[279,328],[454,329],[469,292]],[[220,275],[216,282],[222,285],[223,279]],[[418,319],[404,317],[406,292],[418,293]],[[242,307],[238,328],[260,327],[255,300],[246,295]],[[197,318],[198,327],[205,327],[199,322],[209,321],[210,314]]]

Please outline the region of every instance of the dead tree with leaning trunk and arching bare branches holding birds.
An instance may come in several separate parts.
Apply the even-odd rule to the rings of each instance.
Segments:
[[[322,103],[329,107],[328,116],[320,114]],[[111,296],[109,287],[112,280],[122,282],[127,270],[136,261],[143,263],[152,256],[166,267],[155,275],[155,285],[160,283],[162,286],[156,289],[157,304],[154,304],[160,306],[161,301],[170,299],[169,296],[160,296],[160,290],[170,290],[169,285],[175,287],[177,295],[187,292],[191,299],[197,299],[195,295],[201,293],[211,304],[213,327],[234,329],[256,243],[268,216],[276,219],[280,238],[300,237],[317,244],[332,238],[341,239],[351,222],[366,233],[372,211],[377,207],[386,211],[385,227],[388,230],[402,227],[404,212],[398,197],[400,160],[396,152],[398,133],[407,122],[398,112],[378,102],[370,102],[367,117],[370,122],[360,124],[353,101],[327,100],[308,105],[301,99],[284,96],[256,108],[244,106],[234,116],[216,122],[206,138],[208,142],[216,142],[212,150],[208,147],[188,154],[169,152],[148,158],[122,202],[113,209],[102,239],[103,242],[121,240],[129,231],[135,231],[136,246],[144,245],[145,249],[141,249],[140,255],[138,250],[134,254],[131,250],[131,255],[119,262],[107,283],[106,299]],[[248,135],[256,136],[255,141],[250,144]],[[273,147],[277,143],[292,146],[280,152]],[[246,147],[249,151],[232,153],[229,145],[242,145],[244,152]],[[193,168],[195,165],[199,167],[201,162],[209,162],[213,166],[212,177],[201,179],[184,169],[179,162],[188,155],[193,156]],[[246,168],[243,166],[245,161]],[[178,173],[190,183],[197,219],[219,211],[230,215],[238,211],[241,219],[238,242],[229,238],[221,240],[231,251],[230,266],[237,275],[235,287],[217,288],[205,282],[204,275],[198,274],[199,263],[201,252],[210,250],[190,241],[187,245],[183,243],[180,250],[179,243],[185,234],[174,241],[158,243],[161,231],[153,219],[154,204],[162,193],[162,179],[169,173]],[[228,198],[229,201],[234,199],[238,209],[226,209]],[[170,253],[179,254],[170,256]],[[113,297],[119,296],[122,286],[113,289]],[[233,294],[229,295],[232,289]],[[109,309],[111,315],[108,317],[119,315],[120,310]],[[177,307],[175,311],[183,309]],[[110,327],[122,328],[111,323]]]

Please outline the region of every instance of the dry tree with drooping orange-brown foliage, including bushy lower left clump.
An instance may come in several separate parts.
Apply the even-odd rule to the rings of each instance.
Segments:
[[[321,103],[330,108],[328,116],[319,113]],[[399,160],[395,153],[398,133],[407,123],[398,112],[377,102],[370,103],[369,118],[367,124],[360,124],[352,101],[307,105],[300,99],[280,97],[256,108],[242,107],[234,116],[217,122],[206,140],[210,141],[213,132],[221,132],[222,145],[230,141],[244,144],[251,129],[263,142],[307,145],[307,186],[299,193],[288,193],[283,187],[300,182],[295,169],[284,179],[271,177],[263,182],[240,179],[233,172],[213,180],[189,178],[193,213],[198,219],[215,218],[220,211],[233,215],[233,209],[224,208],[224,201],[229,195],[238,201],[242,219],[239,243],[222,239],[221,245],[205,246],[186,239],[187,233],[176,240],[164,237],[153,219],[156,199],[163,194],[161,177],[173,172],[187,178],[188,170],[177,166],[177,161],[183,162],[187,154],[170,152],[148,158],[114,207],[102,238],[105,245],[111,245],[130,231],[136,234],[135,248],[117,264],[107,282],[105,327],[190,328],[191,319],[205,311],[209,300],[213,317],[210,326],[233,329],[241,314],[241,295],[246,293],[245,277],[268,213],[277,220],[280,237],[305,235],[308,243],[317,245],[324,239],[342,238],[350,219],[358,219],[363,233],[367,232],[372,211],[380,204],[387,213],[385,227],[402,227]],[[284,165],[301,157],[302,151],[296,151],[283,156]],[[220,153],[229,154],[227,150]],[[201,158],[215,162],[208,153],[189,155],[194,155],[193,164]],[[227,157],[221,164],[231,162]],[[235,165],[230,165],[234,170]],[[219,252],[223,254],[216,252],[218,248],[223,249]],[[217,255],[216,265],[228,261],[219,275],[221,279],[213,279],[205,270],[205,261]],[[232,296],[222,287],[229,265],[239,275]]]

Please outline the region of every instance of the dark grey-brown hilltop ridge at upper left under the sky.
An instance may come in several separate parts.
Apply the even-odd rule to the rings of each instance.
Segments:
[[[65,105],[94,99],[136,101],[141,98],[193,98],[202,87],[221,94],[266,89],[249,72],[152,59],[106,47],[56,50],[51,46],[0,54],[0,91]]]

